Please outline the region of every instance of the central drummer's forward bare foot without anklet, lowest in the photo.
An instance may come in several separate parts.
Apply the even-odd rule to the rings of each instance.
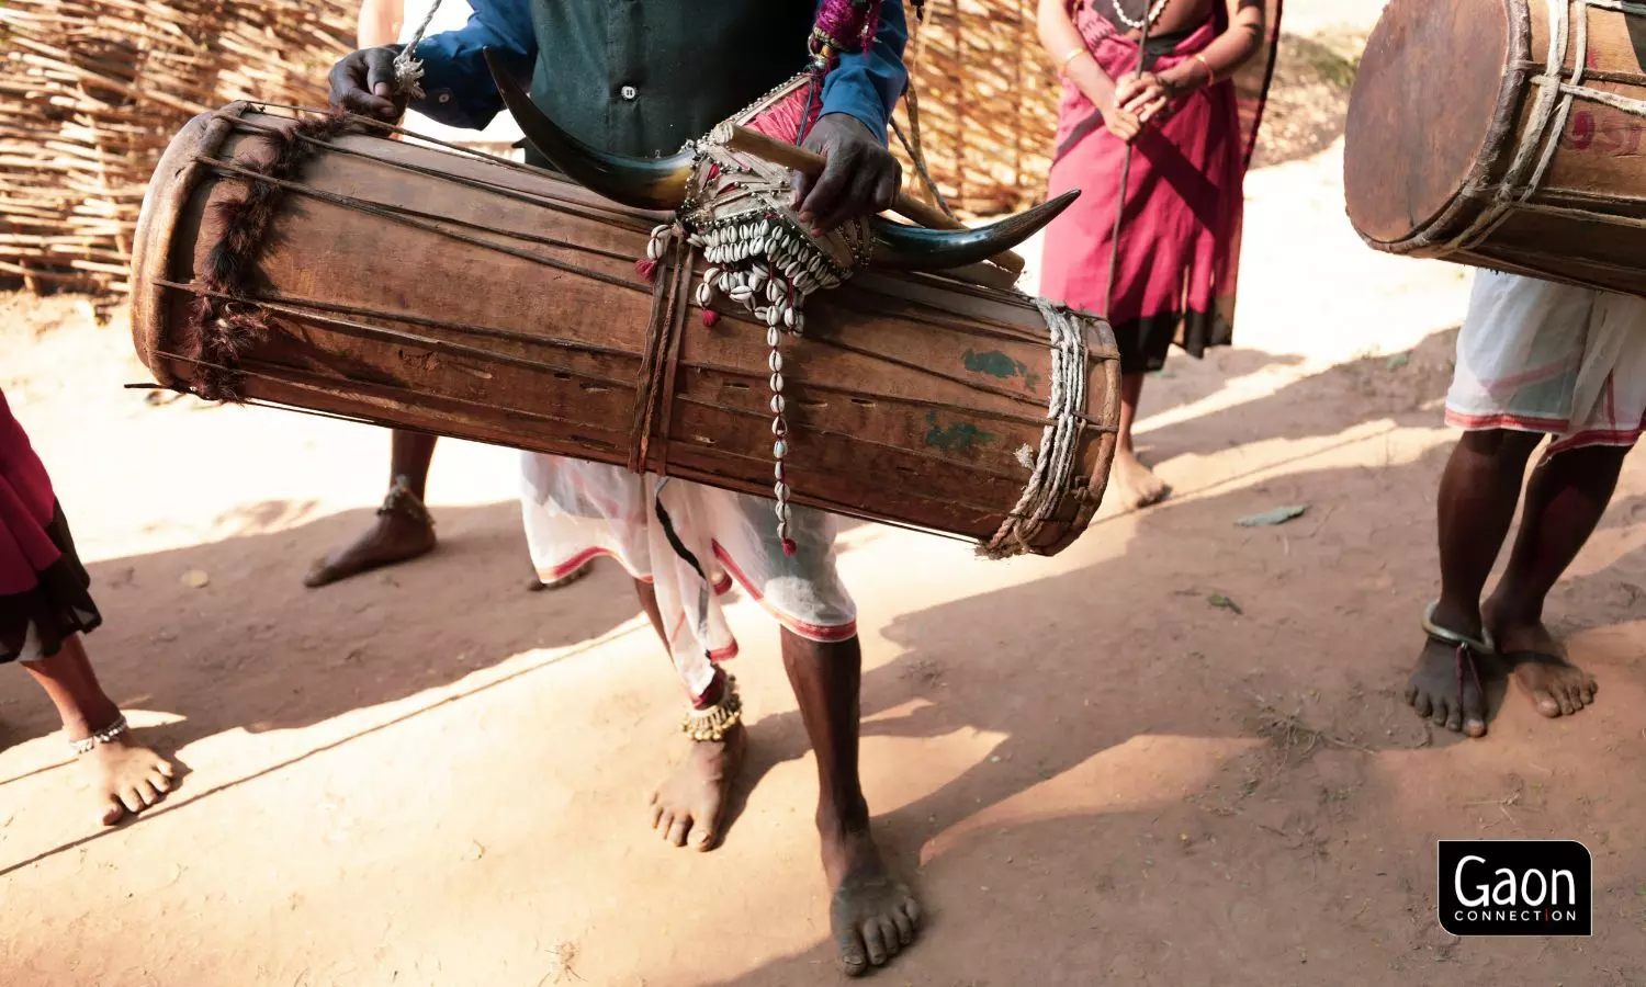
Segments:
[[[871,966],[886,966],[915,941],[920,905],[887,870],[869,827],[839,829],[820,824],[823,873],[833,888],[828,920],[839,966],[861,977]]]

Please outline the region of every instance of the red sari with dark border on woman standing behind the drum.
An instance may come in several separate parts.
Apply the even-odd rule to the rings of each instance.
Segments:
[[[1073,0],[1072,16],[1086,49],[1111,77],[1137,71],[1137,43]],[[1228,26],[1216,2],[1200,28],[1157,48],[1154,71],[1193,59]],[[1274,72],[1281,0],[1267,2],[1266,43],[1236,74],[1180,100],[1170,118],[1144,127],[1132,150],[1121,222],[1114,296],[1104,311],[1114,209],[1126,145],[1103,127],[1103,114],[1067,79],[1058,107],[1050,196],[1081,189],[1047,229],[1040,293],[1108,317],[1121,370],[1159,370],[1177,342],[1200,357],[1234,334],[1234,280],[1244,211],[1246,166]]]

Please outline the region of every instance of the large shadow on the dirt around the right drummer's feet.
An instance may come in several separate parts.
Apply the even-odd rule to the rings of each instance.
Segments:
[[[1333,368],[1160,429],[1155,444],[1333,436],[1360,423],[1345,411],[1368,406],[1434,426],[1450,341],[1442,332],[1399,359]],[[1485,984],[1491,971],[1603,982],[1646,969],[1623,924],[1583,954],[1506,956],[1434,920],[1435,837],[1605,844],[1646,804],[1616,791],[1610,768],[1580,773],[1597,742],[1562,742],[1575,729],[1620,763],[1646,757],[1631,709],[1646,686],[1636,661],[1646,548],[1551,597],[1559,625],[1582,632],[1575,656],[1610,683],[1610,704],[1554,724],[1516,709],[1503,722],[1503,704],[1524,701],[1498,688],[1503,737],[1485,742],[1430,729],[1402,704],[1417,615],[1437,582],[1432,497],[1448,451],[1437,441],[1381,469],[1289,474],[1286,498],[1309,513],[1279,528],[1234,525],[1274,507],[1264,484],[1169,502],[1137,518],[1121,558],[884,628],[902,651],[864,678],[866,735],[1001,737],[958,776],[877,818],[933,916],[886,975],[966,987],[1393,987],[1463,961],[1445,967],[1453,982]],[[1625,498],[1608,530],[1643,515],[1646,502]],[[756,740],[756,773],[805,752],[793,716],[757,724]],[[1602,854],[1597,903],[1633,915],[1646,869],[1628,850]],[[831,962],[818,944],[723,982],[821,982]]]

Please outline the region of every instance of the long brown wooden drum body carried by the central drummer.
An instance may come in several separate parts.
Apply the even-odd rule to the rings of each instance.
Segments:
[[[295,127],[235,104],[166,151],[133,260],[156,380],[772,497],[767,329],[729,303],[706,324],[690,257],[635,270],[667,217],[520,164]],[[1076,319],[1085,357],[1058,378],[1022,294],[863,273],[805,314],[782,344],[795,503],[988,541],[1035,472],[1053,387],[1078,385],[1068,480],[1029,551],[1085,530],[1119,415],[1106,324]]]

